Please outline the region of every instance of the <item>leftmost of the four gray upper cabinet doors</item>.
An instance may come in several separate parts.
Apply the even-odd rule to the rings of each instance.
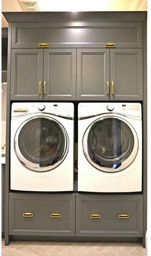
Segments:
[[[43,49],[12,49],[11,99],[42,99]]]

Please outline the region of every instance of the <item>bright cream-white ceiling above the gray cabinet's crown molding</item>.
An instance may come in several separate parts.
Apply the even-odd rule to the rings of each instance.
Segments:
[[[37,2],[40,12],[146,11],[147,0],[20,0]],[[22,12],[18,0],[2,0],[2,12]],[[2,15],[3,16],[3,15]],[[8,23],[2,17],[2,27]]]

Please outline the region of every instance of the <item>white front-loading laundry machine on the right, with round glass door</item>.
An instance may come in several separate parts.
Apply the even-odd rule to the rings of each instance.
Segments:
[[[141,191],[141,104],[79,103],[78,117],[78,191]]]

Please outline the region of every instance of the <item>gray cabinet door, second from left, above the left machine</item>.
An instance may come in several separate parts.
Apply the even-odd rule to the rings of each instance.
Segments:
[[[76,49],[44,50],[44,99],[76,99]]]

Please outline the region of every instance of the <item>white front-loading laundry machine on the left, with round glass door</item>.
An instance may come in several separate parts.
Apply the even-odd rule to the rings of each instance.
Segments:
[[[10,189],[73,191],[74,104],[13,103]]]

